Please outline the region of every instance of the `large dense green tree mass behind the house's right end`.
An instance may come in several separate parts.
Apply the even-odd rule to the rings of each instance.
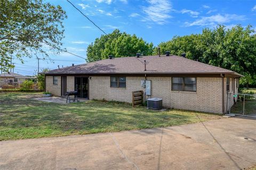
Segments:
[[[205,28],[202,34],[175,36],[171,41],[159,44],[161,53],[186,53],[187,58],[198,60],[213,66],[230,69],[245,75],[243,84],[254,84],[256,77],[256,35],[249,25],[243,28],[218,26]],[[157,53],[157,48],[154,49]]]

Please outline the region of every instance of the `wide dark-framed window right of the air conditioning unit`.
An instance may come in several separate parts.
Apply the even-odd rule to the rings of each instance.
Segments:
[[[196,78],[172,77],[172,90],[196,92]]]

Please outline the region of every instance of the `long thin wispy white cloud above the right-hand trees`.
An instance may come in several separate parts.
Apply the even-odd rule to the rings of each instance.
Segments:
[[[236,14],[217,14],[212,15],[210,17],[201,17],[201,19],[197,19],[194,22],[185,22],[187,27],[190,26],[215,26],[218,24],[228,23],[231,21],[242,21],[245,20],[244,15],[236,15]]]

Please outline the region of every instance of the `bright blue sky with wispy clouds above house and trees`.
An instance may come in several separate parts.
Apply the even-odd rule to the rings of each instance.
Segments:
[[[107,34],[118,28],[157,45],[173,36],[201,33],[205,27],[218,24],[228,28],[241,24],[256,30],[256,1],[167,1],[167,0],[70,0]],[[67,12],[64,21],[63,48],[86,58],[87,46],[102,32],[65,0],[47,1],[59,4]],[[68,53],[50,55],[54,61],[40,60],[40,68],[56,69],[85,61]],[[37,60],[14,60],[14,72],[33,75]],[[54,62],[54,63],[53,63]]]

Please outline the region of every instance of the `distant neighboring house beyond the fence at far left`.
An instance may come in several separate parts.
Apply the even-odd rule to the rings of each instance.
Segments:
[[[0,74],[0,87],[3,85],[13,85],[15,87],[20,87],[20,84],[22,84],[26,79],[35,78],[36,77],[26,77],[14,72],[4,72],[3,74]]]

